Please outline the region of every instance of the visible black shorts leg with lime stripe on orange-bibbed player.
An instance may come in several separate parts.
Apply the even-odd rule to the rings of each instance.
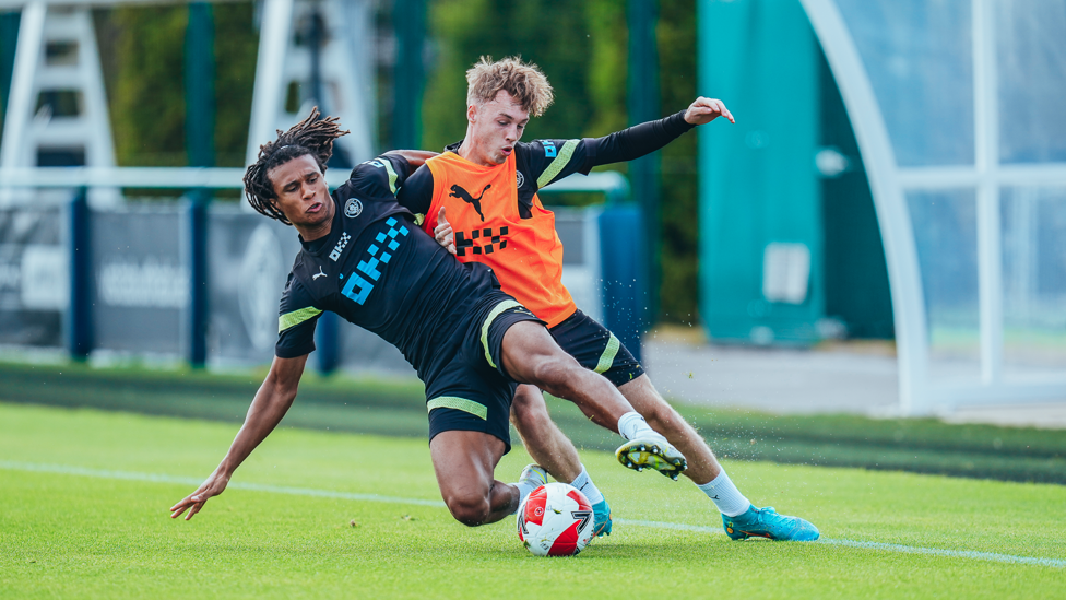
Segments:
[[[643,367],[618,338],[581,310],[548,331],[581,366],[602,374],[615,387],[644,374]]]

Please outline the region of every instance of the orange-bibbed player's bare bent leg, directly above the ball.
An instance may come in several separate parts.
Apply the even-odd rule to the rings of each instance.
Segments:
[[[536,386],[518,387],[511,403],[511,423],[533,461],[556,480],[570,483],[581,474],[578,450],[552,421],[544,396]]]

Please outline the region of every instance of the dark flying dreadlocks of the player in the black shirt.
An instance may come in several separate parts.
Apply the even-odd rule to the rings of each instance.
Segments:
[[[321,113],[316,106],[311,108],[311,114],[306,119],[284,133],[279,129],[276,140],[259,146],[259,160],[245,170],[245,197],[248,198],[251,208],[260,214],[292,225],[285,214],[272,202],[276,196],[274,185],[266,174],[279,165],[305,155],[315,157],[315,162],[324,174],[325,163],[333,155],[333,140],[351,133],[346,130],[341,131],[340,126],[336,125],[337,117],[319,119]]]

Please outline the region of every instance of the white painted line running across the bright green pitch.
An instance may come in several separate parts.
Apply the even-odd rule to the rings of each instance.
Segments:
[[[66,464],[42,464],[36,462],[17,462],[11,460],[0,460],[0,469],[9,471],[28,471],[35,473],[56,473],[63,475],[80,475],[99,479],[117,479],[127,481],[146,481],[151,483],[180,483],[182,485],[200,485],[203,480],[196,478],[185,478],[176,475],[164,475],[156,473],[137,473],[131,471],[111,471],[105,469],[86,469],[83,467],[70,467]],[[381,502],[391,504],[412,504],[417,506],[445,507],[440,501],[402,498],[395,496],[382,496],[379,494],[354,494],[350,492],[334,492],[331,490],[315,490],[311,487],[286,487],[282,485],[263,485],[260,483],[230,483],[228,490],[249,490],[252,492],[266,492],[271,494],[289,494],[294,496],[313,496],[320,498],[339,498],[360,502]],[[645,521],[638,519],[614,519],[618,525],[631,525],[637,527],[651,527],[654,529],[673,529],[678,531],[698,531],[701,533],[724,533],[720,527],[706,527],[699,525],[685,525],[678,522]],[[985,561],[993,563],[1007,563],[1016,565],[1037,565],[1055,568],[1066,568],[1066,561],[1059,558],[1040,558],[1034,556],[1016,556],[1014,554],[997,554],[994,552],[976,552],[972,550],[944,550],[939,548],[923,548],[915,545],[889,544],[881,542],[864,542],[856,540],[833,540],[822,538],[817,542],[826,545],[839,545],[843,548],[857,548],[863,550],[878,550],[883,552],[896,552],[900,554],[925,554],[928,556],[944,556],[949,558],[970,558],[973,561]]]

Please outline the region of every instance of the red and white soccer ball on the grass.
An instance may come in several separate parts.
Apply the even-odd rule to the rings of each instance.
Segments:
[[[592,541],[592,504],[580,490],[548,483],[518,507],[518,539],[537,556],[572,556]]]

